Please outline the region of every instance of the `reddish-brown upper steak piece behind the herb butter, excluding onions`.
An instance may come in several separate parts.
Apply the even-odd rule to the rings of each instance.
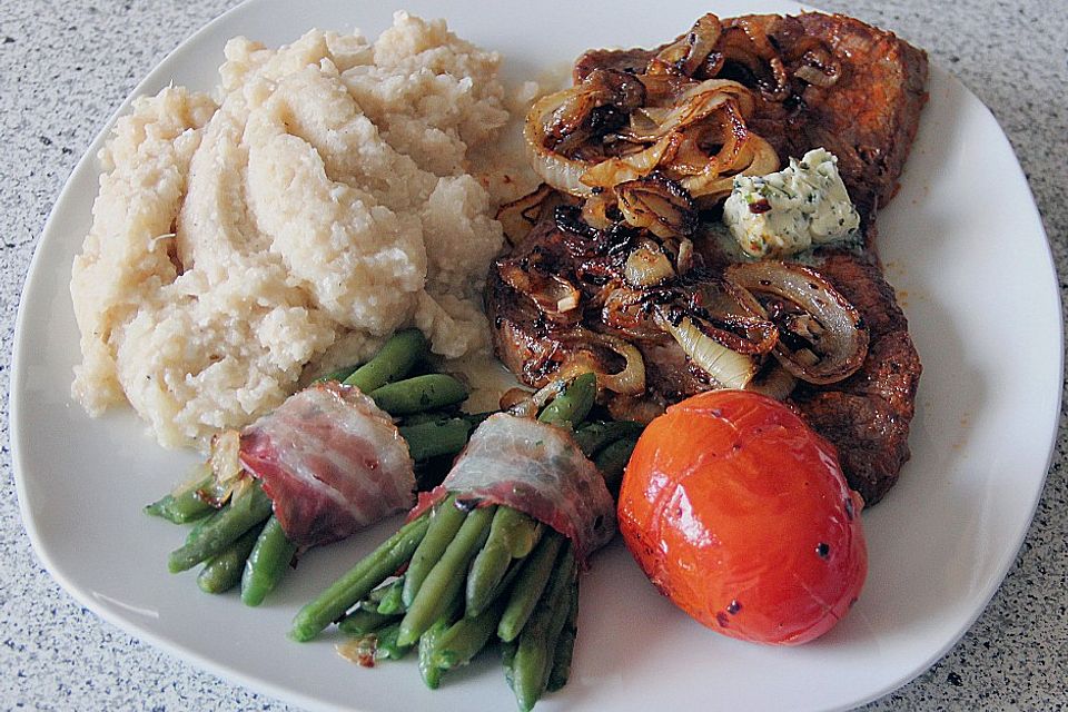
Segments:
[[[842,180],[866,218],[887,205],[927,102],[927,55],[893,32],[842,14],[748,16],[723,24],[738,20],[767,28],[783,57],[801,56],[819,42],[840,66],[827,88],[792,78],[793,93],[783,101],[762,95],[751,75],[730,73],[760,97],[750,128],[775,148],[783,165],[821,146],[838,156]],[[640,72],[660,49],[590,50],[575,62],[573,76],[580,81],[599,68]]]

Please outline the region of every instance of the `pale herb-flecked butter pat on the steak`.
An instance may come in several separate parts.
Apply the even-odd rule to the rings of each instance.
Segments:
[[[838,175],[838,158],[823,148],[790,159],[767,176],[739,176],[723,206],[723,221],[750,257],[785,257],[852,237],[860,227]]]

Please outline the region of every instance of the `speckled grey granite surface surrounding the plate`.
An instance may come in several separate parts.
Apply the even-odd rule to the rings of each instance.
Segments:
[[[355,0],[354,0],[355,2]],[[231,0],[0,0],[0,386],[22,280],[63,181],[135,83]],[[706,3],[714,9],[714,2]],[[1064,0],[825,0],[926,48],[997,116],[1060,274],[1068,269]],[[980,149],[981,150],[981,149]],[[1061,290],[1065,283],[1061,281]],[[1062,295],[1064,296],[1064,295]],[[0,415],[0,710],[289,710],[190,668],[82,609],[22,528]],[[868,710],[1068,708],[1068,478],[1058,436],[1016,564],[953,650]]]

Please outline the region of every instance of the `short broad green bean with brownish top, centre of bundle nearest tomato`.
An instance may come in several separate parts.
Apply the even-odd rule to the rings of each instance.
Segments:
[[[486,544],[467,574],[467,615],[478,615],[493,602],[512,558],[526,556],[533,547],[535,528],[536,523],[526,514],[512,507],[497,507]]]

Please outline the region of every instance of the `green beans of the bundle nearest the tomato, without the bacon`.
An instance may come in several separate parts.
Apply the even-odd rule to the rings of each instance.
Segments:
[[[538,419],[573,428],[589,415],[595,394],[593,374],[580,376]],[[590,456],[611,451],[604,474],[617,479],[620,454],[629,452],[627,443],[633,446],[640,428],[586,427],[593,431],[578,431],[575,442]],[[290,636],[308,641],[339,621],[340,631],[360,644],[383,636],[387,650],[375,653],[375,660],[392,659],[394,647],[417,649],[421,675],[431,688],[500,640],[520,709],[530,710],[546,690],[563,686],[578,611],[575,543],[528,514],[463,492],[448,492],[405,527],[413,537],[404,552],[387,542],[360,561],[297,614]],[[375,575],[367,574],[372,570]],[[396,601],[397,590],[399,609],[375,603],[376,597]]]

